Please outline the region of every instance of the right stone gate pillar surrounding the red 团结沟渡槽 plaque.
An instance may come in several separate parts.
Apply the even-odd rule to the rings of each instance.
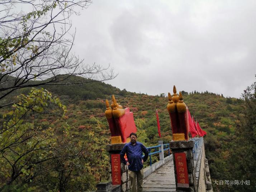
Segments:
[[[194,160],[193,160],[193,147],[194,141],[170,141],[170,149],[173,154],[174,161],[174,172],[175,172],[175,182],[176,182],[176,191],[177,192],[196,192],[197,184],[196,184],[196,176],[195,176],[195,168],[194,168]],[[177,182],[177,167],[176,167],[176,153],[185,153],[186,155],[186,165],[188,170],[188,180],[189,187],[180,187]]]

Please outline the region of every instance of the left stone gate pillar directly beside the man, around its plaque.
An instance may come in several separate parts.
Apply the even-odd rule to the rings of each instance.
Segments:
[[[123,149],[125,143],[115,143],[106,145],[106,150],[109,153],[109,162],[111,166],[111,155],[112,154],[120,154],[121,150]],[[124,165],[120,162],[121,165],[121,188],[122,192],[128,192],[130,190],[130,179],[128,176],[128,166]],[[110,168],[110,177],[112,179],[112,168]]]

